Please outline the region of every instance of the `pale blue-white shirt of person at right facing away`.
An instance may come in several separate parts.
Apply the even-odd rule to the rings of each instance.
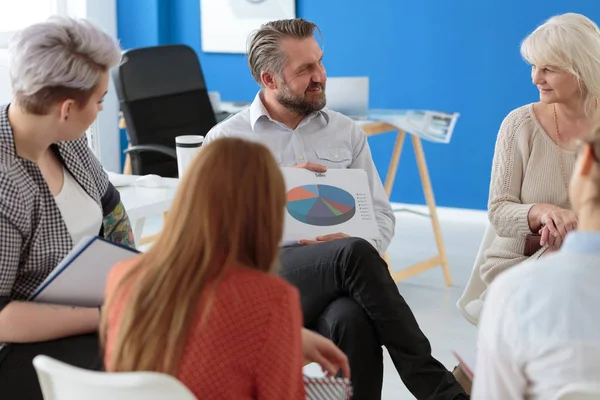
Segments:
[[[499,275],[479,323],[472,399],[554,399],[600,382],[600,232]]]

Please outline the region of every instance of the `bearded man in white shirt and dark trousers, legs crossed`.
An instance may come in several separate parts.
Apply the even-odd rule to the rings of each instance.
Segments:
[[[249,108],[214,127],[204,143],[236,136],[266,145],[282,167],[364,169],[379,238],[368,242],[340,232],[286,245],[280,275],[300,291],[305,327],[348,356],[354,399],[381,398],[381,345],[417,399],[466,399],[452,373],[433,358],[381,257],[394,234],[394,213],[364,132],[325,107],[326,75],[315,29],[298,18],[269,22],[253,34],[248,63],[261,90]]]

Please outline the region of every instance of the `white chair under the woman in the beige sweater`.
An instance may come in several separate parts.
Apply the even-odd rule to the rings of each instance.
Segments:
[[[475,326],[479,323],[479,316],[483,308],[481,295],[487,289],[487,285],[481,280],[480,275],[481,265],[484,261],[483,254],[492,245],[494,239],[496,239],[496,231],[494,230],[494,226],[488,223],[481,244],[479,245],[479,251],[471,270],[469,282],[467,282],[465,291],[456,303],[463,317]]]

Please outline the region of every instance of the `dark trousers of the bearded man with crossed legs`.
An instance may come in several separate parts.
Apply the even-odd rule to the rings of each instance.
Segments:
[[[347,238],[286,247],[281,251],[281,264],[281,276],[300,291],[305,326],[326,333],[320,323],[325,320],[336,328],[330,338],[351,360],[352,384],[357,391],[353,399],[381,397],[381,354],[374,354],[379,344],[387,348],[400,378],[417,399],[467,398],[454,375],[432,356],[429,340],[400,295],[387,264],[369,242]],[[344,298],[351,298],[363,313],[340,300]],[[365,328],[364,315],[375,335]],[[360,327],[356,332],[355,324]],[[344,341],[340,332],[355,337]],[[360,348],[363,346],[366,349]]]

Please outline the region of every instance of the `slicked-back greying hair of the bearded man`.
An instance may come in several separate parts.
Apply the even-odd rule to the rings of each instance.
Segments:
[[[320,35],[321,31],[316,24],[302,18],[271,21],[262,25],[250,36],[248,47],[248,65],[254,80],[263,86],[260,77],[263,71],[273,72],[281,77],[285,65],[285,53],[281,49],[281,40],[313,37],[315,29]]]

